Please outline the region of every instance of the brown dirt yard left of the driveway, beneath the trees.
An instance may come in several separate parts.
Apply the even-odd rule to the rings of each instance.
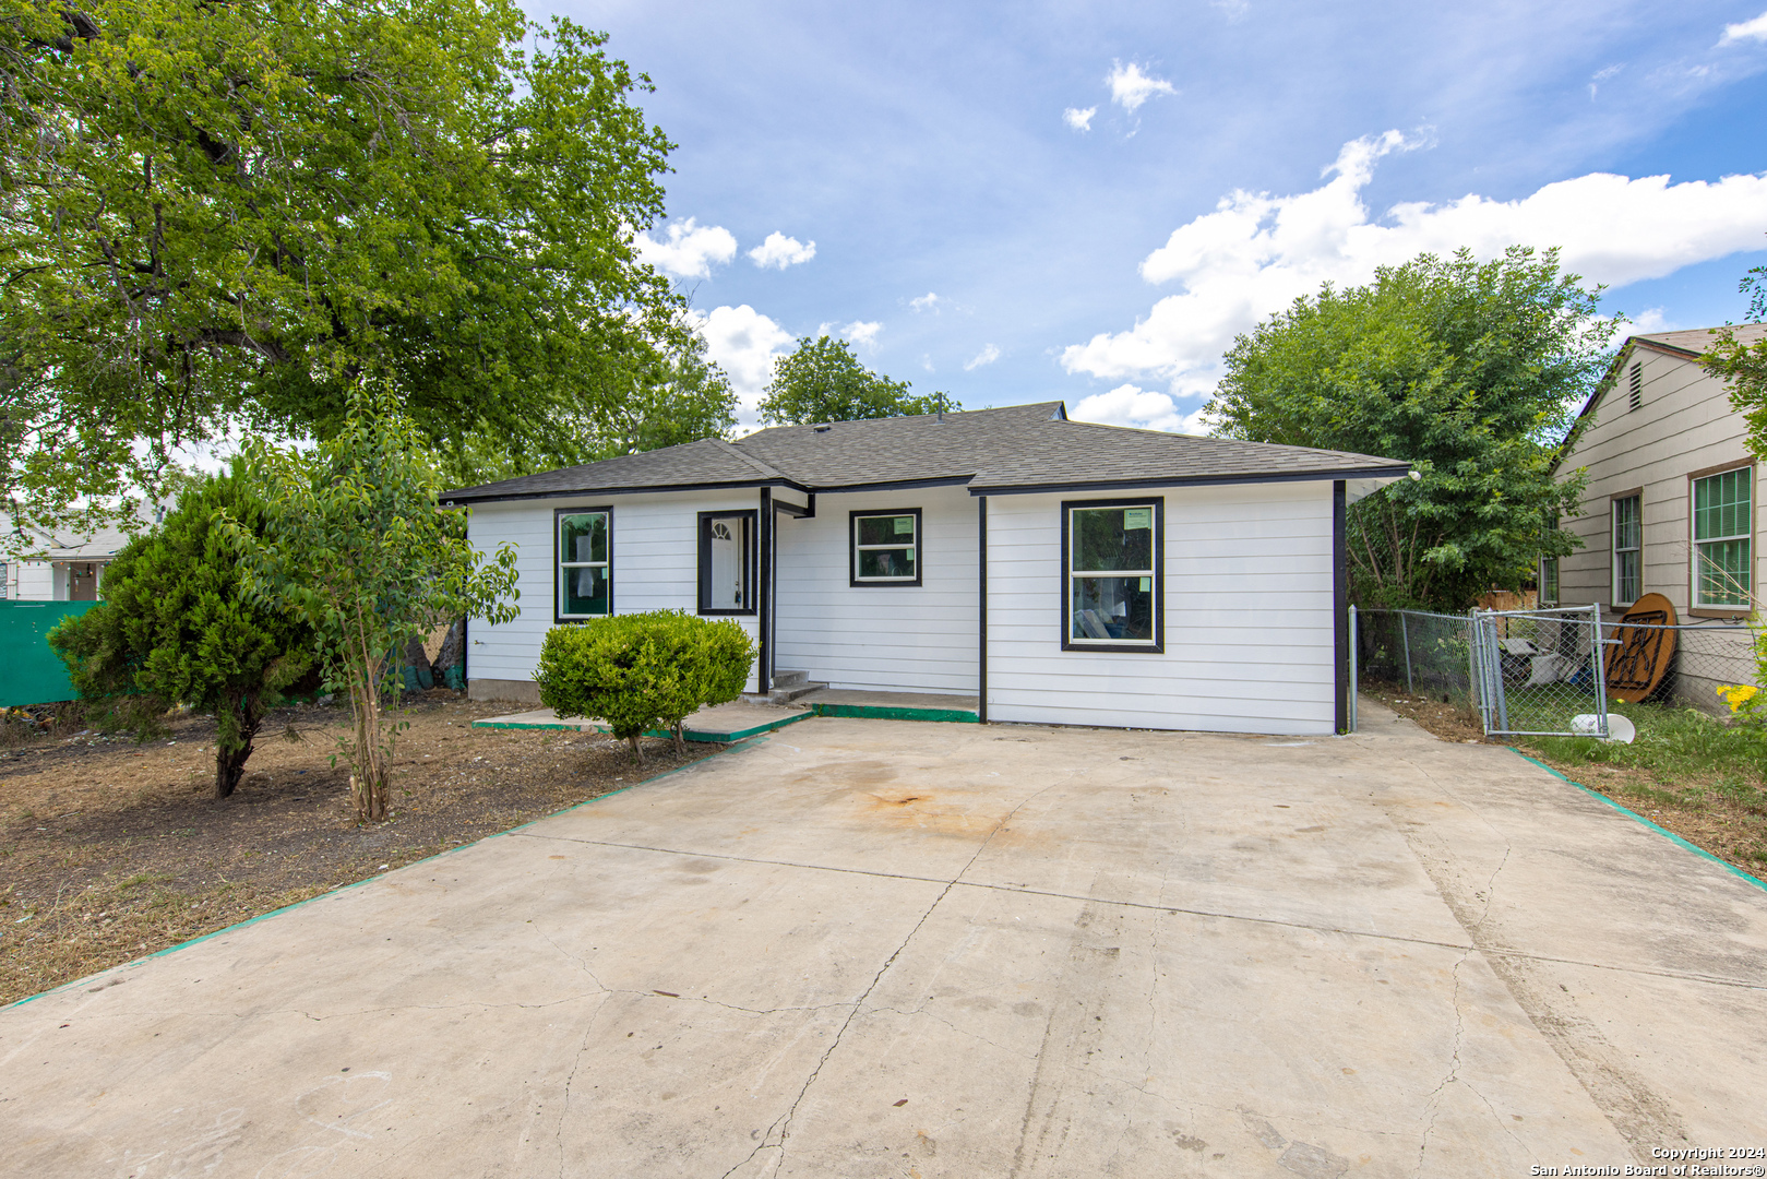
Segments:
[[[392,815],[359,827],[334,767],[346,707],[274,712],[233,797],[216,801],[212,718],[164,741],[49,732],[0,749],[0,1004],[507,831],[723,749],[472,728],[507,714],[408,700]]]

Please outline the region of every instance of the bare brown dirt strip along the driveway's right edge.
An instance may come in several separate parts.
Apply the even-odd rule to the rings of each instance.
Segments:
[[[1444,741],[1488,741],[1467,707],[1447,704],[1440,696],[1380,686],[1364,686],[1362,693]],[[1521,737],[1514,739],[1514,748],[1753,877],[1767,871],[1767,813],[1758,806],[1649,769],[1566,762]]]

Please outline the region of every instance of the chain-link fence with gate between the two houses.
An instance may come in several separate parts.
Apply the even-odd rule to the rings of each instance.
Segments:
[[[1725,712],[1719,688],[1756,682],[1746,624],[1603,619],[1597,658],[1594,617],[1590,606],[1472,615],[1364,610],[1357,681],[1460,704],[1491,734],[1599,734],[1615,702]]]

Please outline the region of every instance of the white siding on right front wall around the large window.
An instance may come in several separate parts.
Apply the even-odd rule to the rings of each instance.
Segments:
[[[1331,734],[1331,483],[1149,495],[1166,502],[1163,654],[1062,650],[1064,497],[988,500],[988,718]]]

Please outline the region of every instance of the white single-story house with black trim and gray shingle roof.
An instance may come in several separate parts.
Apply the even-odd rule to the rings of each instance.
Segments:
[[[449,491],[519,551],[474,698],[537,702],[541,640],[682,608],[756,638],[749,689],[975,698],[981,721],[1346,725],[1345,507],[1405,463],[1069,421],[1060,401],[779,426]]]

